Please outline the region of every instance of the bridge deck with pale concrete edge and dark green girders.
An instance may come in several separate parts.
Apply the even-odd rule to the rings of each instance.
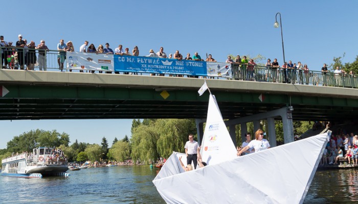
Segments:
[[[2,69],[0,119],[194,118],[200,135],[208,106],[208,93],[197,93],[203,83],[195,78]],[[254,121],[256,129],[260,119],[282,119],[285,143],[293,141],[292,120],[354,120],[358,114],[358,90],[352,88],[209,79],[207,84],[229,126]]]

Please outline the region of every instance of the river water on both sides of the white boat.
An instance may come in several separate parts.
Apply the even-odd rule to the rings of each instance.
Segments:
[[[71,176],[0,176],[0,203],[165,203],[151,182],[158,170],[118,166],[70,171]],[[317,171],[304,203],[355,203],[358,169]]]

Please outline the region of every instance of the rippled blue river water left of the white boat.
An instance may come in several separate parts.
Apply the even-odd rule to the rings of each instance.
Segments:
[[[165,203],[151,182],[156,172],[149,166],[70,173],[68,178],[36,180],[0,176],[0,203]]]

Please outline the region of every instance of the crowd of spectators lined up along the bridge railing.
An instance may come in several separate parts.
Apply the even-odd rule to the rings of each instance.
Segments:
[[[1,42],[1,63],[3,68],[8,69],[27,69],[34,70],[35,65],[39,67],[39,70],[47,70],[46,63],[46,52],[50,49],[45,44],[44,40],[40,41],[40,44],[35,45],[34,41],[30,41],[27,43],[26,39],[23,39],[21,34],[18,35],[18,41],[16,41],[15,45],[13,42],[6,42],[4,40],[4,36],[0,36]],[[123,45],[118,45],[115,50],[109,47],[109,43],[105,43],[105,47],[100,44],[97,48],[93,43],[89,44],[88,41],[84,41],[84,43],[79,47],[78,52],[82,53],[96,53],[96,54],[106,54],[106,55],[127,55],[127,56],[139,56],[139,48],[138,46],[133,47],[131,52],[128,47],[123,49]],[[36,50],[38,53],[38,57],[36,56]],[[75,47],[72,41],[68,41],[64,43],[64,40],[61,39],[57,44],[57,63],[58,69],[63,71],[64,61],[66,59],[66,52],[74,52]],[[154,52],[153,49],[149,50],[148,55],[143,55],[144,57],[153,57],[153,58],[169,58],[169,59],[177,59],[177,60],[194,60],[194,61],[207,61],[207,62],[216,62],[216,60],[212,57],[211,54],[207,55],[206,60],[204,60],[197,52],[191,57],[190,53],[187,54],[187,57],[183,58],[183,55],[180,54],[179,50],[176,50],[174,55],[167,55],[164,52],[164,48],[160,47],[158,52]],[[264,66],[258,66],[253,59],[247,59],[246,56],[243,56],[242,59],[239,55],[236,56],[236,59],[231,59],[231,56],[228,56],[226,63],[231,63],[233,65],[238,66],[238,71],[240,75],[240,79],[242,80],[251,80],[251,81],[270,81],[270,82],[283,82],[283,83],[299,83],[299,84],[313,84],[318,85],[322,84],[323,86],[327,86],[326,77],[328,71],[327,65],[324,64],[321,73],[322,77],[318,77],[317,73],[312,73],[309,71],[308,65],[302,65],[301,62],[292,63],[292,61],[284,62],[281,66],[279,65],[277,59],[274,59],[271,62],[271,59],[267,59],[267,62]],[[72,69],[70,69],[72,71]],[[79,70],[83,72],[83,70]],[[95,71],[91,71],[94,73]],[[99,71],[102,73],[102,71]],[[256,72],[256,73],[255,73]],[[106,71],[106,73],[111,73],[111,71]],[[119,72],[115,72],[119,74]],[[138,74],[137,72],[124,72],[124,74]],[[315,75],[316,74],[316,75]],[[341,70],[340,67],[337,67],[334,70],[334,75],[351,75],[354,76],[353,71],[350,73],[345,73],[344,70]],[[151,73],[150,75],[155,75],[155,73]],[[164,74],[158,74],[164,75]],[[169,75],[170,77],[173,75]],[[260,78],[258,79],[258,76]],[[184,77],[184,75],[176,75],[176,77]],[[196,78],[198,78],[196,76]],[[341,82],[337,81],[337,84]]]

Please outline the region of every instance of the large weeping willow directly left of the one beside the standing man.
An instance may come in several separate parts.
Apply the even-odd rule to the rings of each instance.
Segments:
[[[152,160],[159,158],[156,151],[156,142],[159,139],[158,130],[155,125],[141,124],[133,129],[131,141],[132,152],[130,154],[133,161],[140,160],[148,164]]]

